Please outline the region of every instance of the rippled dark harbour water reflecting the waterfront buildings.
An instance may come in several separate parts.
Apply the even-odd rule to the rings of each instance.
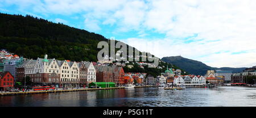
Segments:
[[[156,87],[0,96],[0,106],[256,106],[256,88]]]

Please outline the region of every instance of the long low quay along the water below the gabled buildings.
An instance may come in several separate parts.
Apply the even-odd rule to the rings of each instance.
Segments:
[[[139,87],[156,87],[156,86],[135,86]],[[92,91],[92,90],[110,90],[110,89],[123,89],[125,87],[107,87],[107,88],[79,88],[71,90],[47,90],[47,91],[20,91],[20,92],[0,92],[0,96],[5,95],[26,95],[26,94],[44,94],[44,93],[56,93],[56,92],[72,92],[72,91]]]

